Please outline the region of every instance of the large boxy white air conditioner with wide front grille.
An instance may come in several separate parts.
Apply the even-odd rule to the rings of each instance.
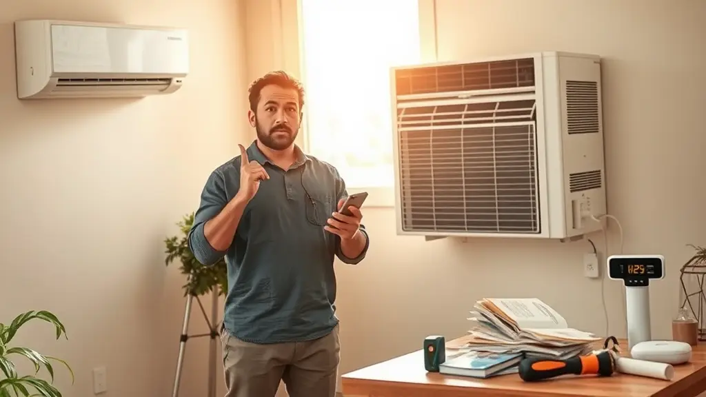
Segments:
[[[601,61],[542,52],[393,68],[397,233],[578,238],[606,213]]]

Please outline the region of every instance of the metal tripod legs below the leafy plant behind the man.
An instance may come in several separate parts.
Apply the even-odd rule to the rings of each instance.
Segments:
[[[179,338],[179,361],[177,361],[177,374],[174,376],[174,391],[172,392],[172,397],[179,397],[179,381],[181,381],[181,369],[184,365],[184,349],[186,348],[186,341],[189,338],[200,338],[202,336],[210,336],[210,350],[208,351],[208,394],[207,397],[216,397],[216,348],[217,348],[217,338],[219,336],[218,326],[220,321],[218,318],[218,288],[214,287],[211,294],[213,295],[212,307],[211,307],[211,319],[209,321],[206,315],[205,309],[203,309],[203,304],[198,296],[186,295],[186,311],[184,312],[184,326],[181,327],[181,336]],[[198,307],[201,308],[201,313],[203,314],[203,319],[205,319],[206,324],[210,330],[209,333],[201,333],[198,335],[189,335],[189,319],[191,319],[191,303],[196,299]]]

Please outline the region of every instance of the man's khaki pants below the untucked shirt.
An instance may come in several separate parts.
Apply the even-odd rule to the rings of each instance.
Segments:
[[[340,358],[338,325],[307,342],[259,345],[221,329],[225,397],[274,397],[280,380],[290,397],[334,397]]]

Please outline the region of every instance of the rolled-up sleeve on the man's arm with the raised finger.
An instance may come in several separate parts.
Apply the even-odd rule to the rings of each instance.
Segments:
[[[206,266],[215,264],[226,254],[226,251],[218,251],[211,246],[203,232],[203,227],[208,220],[222,211],[227,202],[223,176],[216,170],[210,174],[203,186],[201,204],[196,210],[193,225],[189,231],[189,249],[196,260]]]

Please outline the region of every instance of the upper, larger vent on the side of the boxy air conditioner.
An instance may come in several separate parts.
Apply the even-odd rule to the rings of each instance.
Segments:
[[[566,81],[566,118],[569,134],[599,132],[598,83]]]

